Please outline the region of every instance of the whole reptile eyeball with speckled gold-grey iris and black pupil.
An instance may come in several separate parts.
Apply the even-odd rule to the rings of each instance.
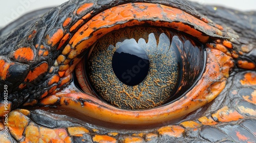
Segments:
[[[118,51],[123,53],[116,59]],[[84,92],[106,103],[129,110],[150,109],[173,103],[193,88],[203,73],[205,57],[203,44],[184,33],[125,28],[91,47],[81,63],[83,76],[77,77]]]

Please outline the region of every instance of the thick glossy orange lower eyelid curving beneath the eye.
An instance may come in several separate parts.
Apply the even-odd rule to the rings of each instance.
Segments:
[[[49,98],[57,99],[59,108],[73,109],[101,121],[125,124],[148,125],[177,119],[215,99],[226,85],[232,58],[215,49],[207,49],[208,62],[205,72],[196,86],[180,100],[148,110],[123,110],[101,100],[76,91],[59,92],[41,101],[47,105]]]

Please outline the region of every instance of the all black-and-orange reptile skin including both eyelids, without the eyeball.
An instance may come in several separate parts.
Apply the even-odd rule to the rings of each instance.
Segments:
[[[0,85],[8,85],[6,109],[0,89],[1,141],[256,140],[256,14],[186,1],[134,2],[70,1],[14,31],[0,31]],[[183,98],[121,110],[73,86],[83,51],[106,33],[143,25],[173,28],[205,44],[203,76]]]

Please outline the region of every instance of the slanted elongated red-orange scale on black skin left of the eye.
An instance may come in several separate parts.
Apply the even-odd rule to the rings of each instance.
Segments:
[[[29,71],[29,74],[24,81],[31,82],[31,81],[35,80],[36,78],[38,78],[38,76],[40,76],[41,74],[46,73],[47,70],[48,70],[48,63],[41,62],[40,64],[38,64],[37,67],[35,67],[34,69]]]

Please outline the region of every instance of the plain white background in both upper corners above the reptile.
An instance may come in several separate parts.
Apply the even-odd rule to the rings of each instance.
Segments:
[[[27,12],[31,12],[36,9],[53,7],[60,5],[68,0],[0,0],[0,27],[7,25],[12,20],[18,18]],[[256,10],[255,0],[190,0],[200,3],[201,5],[220,5],[228,8],[234,8],[239,10]]]

